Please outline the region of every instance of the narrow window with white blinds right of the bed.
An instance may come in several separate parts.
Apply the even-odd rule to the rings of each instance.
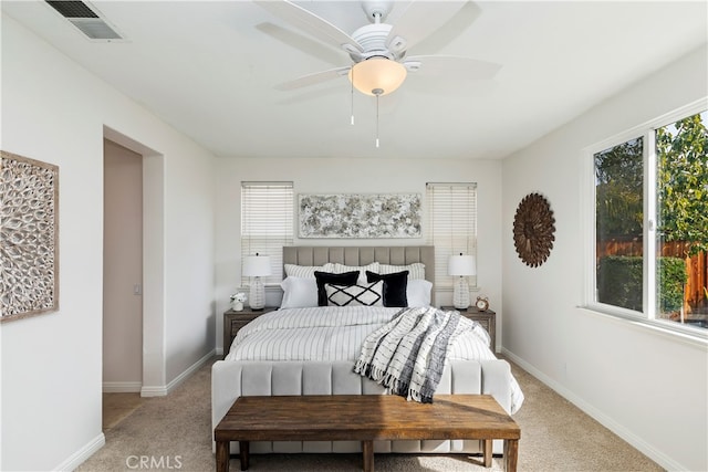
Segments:
[[[447,274],[452,254],[477,255],[477,183],[427,183],[429,243],[435,245],[435,285],[452,290]],[[469,277],[477,286],[477,276]]]

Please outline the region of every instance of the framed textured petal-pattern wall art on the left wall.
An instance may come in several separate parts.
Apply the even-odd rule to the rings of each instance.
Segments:
[[[59,310],[59,167],[0,151],[0,321]]]

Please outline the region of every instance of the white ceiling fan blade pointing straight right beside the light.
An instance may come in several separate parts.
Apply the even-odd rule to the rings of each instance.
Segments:
[[[408,72],[415,74],[454,76],[485,80],[497,75],[501,64],[457,55],[417,55],[403,61]]]

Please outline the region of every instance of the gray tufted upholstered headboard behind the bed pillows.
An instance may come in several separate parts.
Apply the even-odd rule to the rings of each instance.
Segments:
[[[435,306],[435,247],[433,245],[289,245],[283,248],[283,264],[322,265],[326,262],[339,262],[344,265],[366,265],[372,262],[406,265],[423,262],[425,277],[433,283],[430,304]]]

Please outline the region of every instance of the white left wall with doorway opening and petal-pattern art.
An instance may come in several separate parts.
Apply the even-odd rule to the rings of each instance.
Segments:
[[[144,345],[157,353],[156,388],[214,349],[215,159],[6,14],[1,70],[2,149],[59,166],[60,310],[0,325],[0,469],[72,469],[104,441],[104,126],[157,153],[145,161],[148,177],[158,174],[145,198],[158,189],[164,208],[148,206],[145,218],[164,231],[145,245],[158,249],[145,258],[145,291],[163,310],[145,316],[165,337]]]

